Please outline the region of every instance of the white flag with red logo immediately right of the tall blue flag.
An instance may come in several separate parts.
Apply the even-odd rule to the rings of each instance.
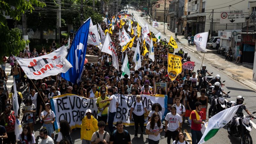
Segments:
[[[100,45],[100,37],[97,25],[93,25],[89,28],[88,44]]]

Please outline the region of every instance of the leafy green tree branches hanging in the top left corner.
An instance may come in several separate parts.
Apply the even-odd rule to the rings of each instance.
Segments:
[[[38,0],[0,0],[0,57],[4,54],[17,54],[25,48],[25,41],[22,32],[18,28],[9,29],[7,20],[4,17],[10,16],[15,21],[21,20],[21,13],[34,10],[33,5],[44,7],[45,4]]]

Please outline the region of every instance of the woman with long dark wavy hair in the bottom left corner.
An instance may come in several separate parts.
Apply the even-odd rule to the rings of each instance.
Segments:
[[[22,132],[20,133],[18,139],[20,140],[20,143],[23,144],[35,144],[36,139],[35,135],[31,133],[30,127],[25,124],[22,128]]]

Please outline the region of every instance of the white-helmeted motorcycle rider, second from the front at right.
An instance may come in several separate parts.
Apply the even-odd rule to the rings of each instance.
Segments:
[[[216,95],[216,96],[220,96],[221,92],[224,93],[226,96],[229,96],[221,87],[220,87],[220,83],[216,82],[214,83],[214,87],[212,88],[212,95]],[[215,105],[215,99],[212,99],[211,102],[211,107],[209,108],[209,112],[208,112],[208,117],[211,118],[211,113],[212,113],[212,109],[214,108]]]

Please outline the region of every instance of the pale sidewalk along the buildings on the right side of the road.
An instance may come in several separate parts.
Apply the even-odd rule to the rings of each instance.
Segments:
[[[146,19],[145,19],[146,20]],[[148,24],[150,24],[148,19]],[[159,27],[156,28],[161,33],[164,33],[164,25],[163,22],[159,22]],[[167,29],[167,23],[165,23],[165,35],[166,36],[175,36],[175,32]],[[226,71],[227,75],[231,78],[235,79],[238,82],[247,85],[248,87],[254,89],[256,91],[256,82],[252,80],[252,72],[253,72],[253,64],[251,63],[235,63],[236,60],[233,61],[225,61],[225,56],[219,55],[214,49],[207,49],[207,52],[201,53],[196,51],[196,46],[188,45],[188,40],[183,35],[178,35],[177,43],[191,51],[192,53],[197,53],[201,58],[204,57],[204,61],[211,64],[213,67],[218,68],[222,71]],[[169,40],[168,40],[169,41]]]

